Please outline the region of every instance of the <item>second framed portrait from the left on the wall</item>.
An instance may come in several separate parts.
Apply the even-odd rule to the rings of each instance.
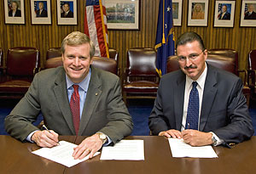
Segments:
[[[31,19],[32,25],[50,25],[50,1],[31,0]]]

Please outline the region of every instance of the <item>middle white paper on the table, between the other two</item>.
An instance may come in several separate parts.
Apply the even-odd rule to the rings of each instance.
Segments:
[[[144,142],[124,139],[114,146],[103,147],[101,160],[144,160]]]

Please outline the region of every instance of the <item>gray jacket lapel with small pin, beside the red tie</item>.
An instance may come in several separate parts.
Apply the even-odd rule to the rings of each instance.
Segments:
[[[90,121],[90,116],[92,115],[96,107],[96,103],[102,95],[102,90],[100,89],[100,87],[101,81],[99,79],[99,75],[97,74],[97,71],[93,67],[91,67],[90,83],[86,94],[84,109],[80,121],[79,135],[83,134],[85,127]]]

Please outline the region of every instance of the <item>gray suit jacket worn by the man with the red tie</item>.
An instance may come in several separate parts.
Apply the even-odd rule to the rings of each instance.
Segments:
[[[38,130],[31,123],[40,112],[49,129],[60,135],[75,135],[63,67],[42,70],[34,77],[25,97],[6,117],[6,131],[24,141]],[[91,136],[100,131],[116,143],[131,134],[132,126],[131,115],[122,100],[119,77],[91,67],[79,135]]]

